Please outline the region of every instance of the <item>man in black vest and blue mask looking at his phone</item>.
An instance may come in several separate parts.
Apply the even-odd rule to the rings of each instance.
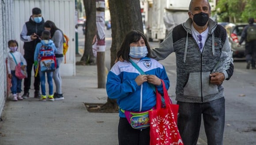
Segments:
[[[41,9],[34,7],[32,15],[28,22],[23,25],[20,38],[24,41],[24,58],[27,62],[27,78],[24,79],[23,98],[29,98],[29,89],[31,84],[31,71],[34,64],[34,51],[38,42],[40,42],[41,33],[44,30],[44,19],[42,18]],[[34,72],[36,68],[34,68]],[[40,98],[40,76],[34,78],[34,98]]]

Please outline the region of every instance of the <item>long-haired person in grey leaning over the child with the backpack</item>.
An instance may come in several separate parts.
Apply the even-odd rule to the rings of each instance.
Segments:
[[[56,85],[56,92],[54,93],[54,99],[55,100],[64,100],[64,97],[62,95],[61,91],[61,77],[60,77],[60,64],[63,61],[63,42],[64,42],[64,36],[63,32],[56,27],[54,22],[52,21],[46,21],[44,24],[45,30],[48,30],[51,32],[51,40],[53,40],[53,43],[55,44],[57,48],[57,52],[55,54],[56,56],[56,62],[57,62],[57,68],[53,72],[53,80]]]

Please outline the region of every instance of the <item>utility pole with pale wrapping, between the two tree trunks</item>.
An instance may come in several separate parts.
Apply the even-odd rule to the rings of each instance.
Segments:
[[[105,88],[105,0],[96,0],[98,88]]]

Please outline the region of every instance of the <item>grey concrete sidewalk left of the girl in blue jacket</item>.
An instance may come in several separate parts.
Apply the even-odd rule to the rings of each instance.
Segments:
[[[107,101],[97,79],[97,65],[76,66],[76,76],[62,77],[64,100],[13,102],[8,98],[0,122],[0,145],[118,145],[118,113],[90,113],[84,105]]]

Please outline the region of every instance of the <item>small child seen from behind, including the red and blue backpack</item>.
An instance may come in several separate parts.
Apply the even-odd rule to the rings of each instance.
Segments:
[[[54,101],[53,98],[53,71],[56,69],[56,58],[55,53],[57,49],[50,40],[51,33],[48,30],[44,30],[42,35],[41,43],[38,43],[34,53],[34,65],[37,68],[37,72],[40,75],[41,83],[41,101],[46,101],[46,91],[45,91],[45,72],[47,74],[47,82],[49,84],[49,95],[48,100]]]

